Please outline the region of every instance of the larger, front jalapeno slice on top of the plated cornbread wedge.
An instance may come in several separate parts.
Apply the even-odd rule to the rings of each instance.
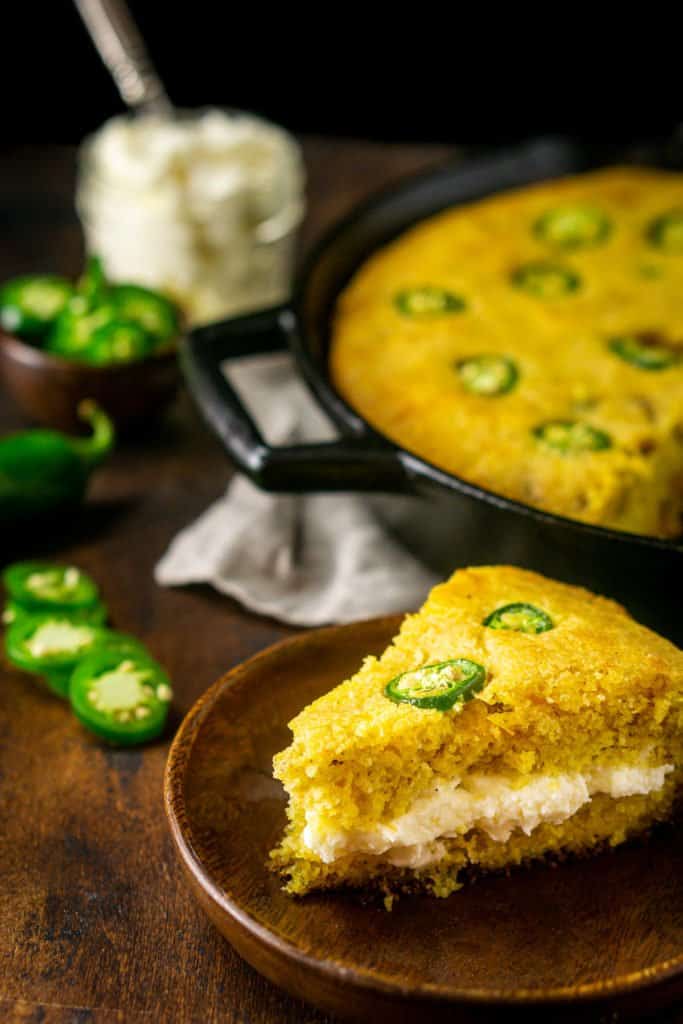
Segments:
[[[386,684],[384,692],[395,703],[449,711],[456,703],[471,700],[485,682],[483,666],[467,657],[454,657],[402,672]]]

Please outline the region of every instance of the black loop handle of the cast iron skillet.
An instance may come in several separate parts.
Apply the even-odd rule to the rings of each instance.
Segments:
[[[273,446],[263,438],[221,370],[226,359],[287,348],[293,313],[284,306],[196,328],[182,342],[180,362],[208,425],[243,473],[264,490],[408,492],[398,453],[370,434]],[[278,395],[272,396],[273,401]]]

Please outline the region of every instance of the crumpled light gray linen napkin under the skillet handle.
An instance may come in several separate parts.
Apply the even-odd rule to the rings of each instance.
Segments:
[[[287,354],[229,364],[273,444],[335,436]],[[296,626],[416,608],[436,582],[357,495],[268,495],[236,476],[156,567],[165,587],[208,583],[252,611]]]

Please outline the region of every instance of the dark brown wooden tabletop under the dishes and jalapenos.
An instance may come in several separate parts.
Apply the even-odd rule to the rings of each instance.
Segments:
[[[307,246],[370,190],[433,164],[436,147],[305,145]],[[29,147],[0,161],[0,280],[76,274],[74,153]],[[23,425],[7,395],[0,432]],[[4,560],[73,559],[99,582],[117,627],[174,679],[177,715],[214,679],[288,630],[204,588],[162,590],[154,565],[223,490],[229,468],[186,395],[93,479],[68,528],[5,534]],[[176,719],[177,723],[177,719]],[[92,743],[27,677],[0,680],[0,1020],[327,1024],[262,979],[189,895],[164,821],[168,740],[142,752]]]

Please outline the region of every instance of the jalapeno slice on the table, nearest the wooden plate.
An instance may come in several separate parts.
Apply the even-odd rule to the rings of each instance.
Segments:
[[[160,735],[173,696],[168,676],[148,655],[95,651],[72,676],[74,714],[91,732],[119,746]]]

